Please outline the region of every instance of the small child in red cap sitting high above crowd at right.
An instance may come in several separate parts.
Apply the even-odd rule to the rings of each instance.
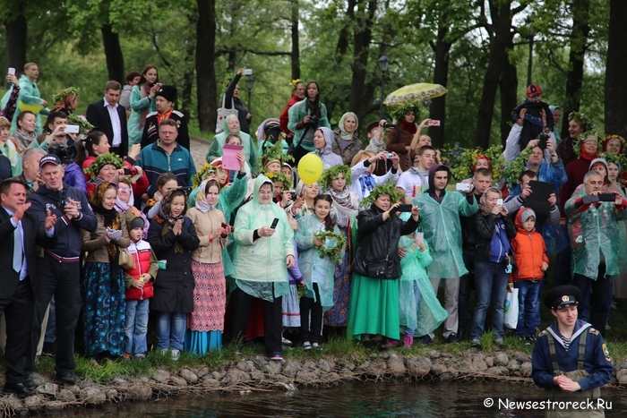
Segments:
[[[522,111],[525,109],[524,111]],[[531,140],[535,140],[542,133],[553,131],[553,112],[542,101],[542,89],[537,84],[529,84],[527,99],[514,107],[511,111],[511,120],[522,126],[520,132],[520,149],[525,149]]]

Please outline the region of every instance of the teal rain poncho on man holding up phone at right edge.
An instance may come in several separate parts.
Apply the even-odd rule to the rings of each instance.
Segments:
[[[585,195],[586,191],[582,188],[564,205],[571,235],[571,274],[577,273],[597,280],[598,265],[603,253],[606,277],[614,278],[613,276],[619,274],[617,220],[624,218],[624,210],[616,209],[610,201],[602,202],[598,208],[592,204],[577,209],[575,203]]]

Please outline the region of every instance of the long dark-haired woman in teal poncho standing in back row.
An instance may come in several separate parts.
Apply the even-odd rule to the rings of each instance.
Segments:
[[[289,108],[288,128],[294,132],[294,163],[298,165],[300,158],[315,150],[314,132],[325,126],[331,128],[327,117],[327,107],[320,101],[320,87],[316,81],[309,81],[306,86],[306,97]]]

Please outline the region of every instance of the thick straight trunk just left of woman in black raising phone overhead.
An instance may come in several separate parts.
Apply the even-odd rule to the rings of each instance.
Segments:
[[[196,23],[196,95],[198,123],[202,132],[216,129],[218,97],[216,94],[216,2],[197,0]]]

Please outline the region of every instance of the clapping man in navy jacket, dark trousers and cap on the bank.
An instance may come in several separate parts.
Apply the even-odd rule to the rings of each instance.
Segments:
[[[74,374],[74,330],[81,311],[81,229],[96,231],[94,216],[82,190],[63,183],[61,158],[47,154],[39,160],[39,173],[44,184],[29,197],[30,209],[44,225],[47,211],[56,215],[56,247],[44,250],[39,261],[39,277],[33,281],[35,311],[30,333],[30,354],[26,359],[24,386],[32,386],[32,371],[41,333],[41,323],[54,294],[56,301],[56,380],[76,383]]]

